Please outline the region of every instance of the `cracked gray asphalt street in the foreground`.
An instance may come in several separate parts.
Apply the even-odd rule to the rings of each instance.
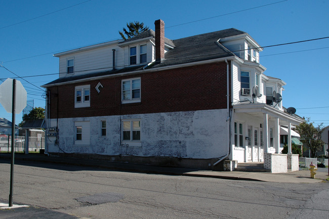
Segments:
[[[6,201],[8,162],[0,162],[0,174],[0,201]],[[304,218],[306,212],[311,212],[307,218],[325,218],[328,190],[327,182],[229,180],[17,161],[13,200],[31,206],[15,211],[21,215],[33,209],[47,214],[30,218]],[[10,213],[0,210],[0,218],[29,218]]]

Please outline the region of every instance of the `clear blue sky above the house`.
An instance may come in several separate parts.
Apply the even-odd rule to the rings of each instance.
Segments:
[[[119,39],[118,30],[130,21],[154,29],[154,21],[162,19],[166,37],[173,40],[234,27],[264,47],[329,36],[327,0],[0,0],[0,5],[0,64],[20,77],[33,76],[24,78],[32,85],[18,80],[35,107],[45,107],[39,86],[58,78],[59,60],[53,54]],[[260,53],[265,75],[286,82],[283,105],[324,126],[329,125],[328,60],[329,39]],[[0,78],[14,78],[10,71],[0,67]],[[2,105],[0,117],[11,121]],[[21,120],[17,114],[16,123]]]

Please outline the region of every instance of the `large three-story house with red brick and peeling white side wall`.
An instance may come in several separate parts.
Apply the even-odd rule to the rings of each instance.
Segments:
[[[261,46],[234,28],[170,40],[164,27],[54,55],[46,152],[209,169],[265,160],[274,170],[280,126],[303,120],[273,102],[286,84],[264,75]]]

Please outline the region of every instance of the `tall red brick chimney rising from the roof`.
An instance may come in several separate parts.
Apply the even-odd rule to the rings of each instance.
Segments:
[[[165,59],[165,22],[156,20],[155,24],[155,61]]]

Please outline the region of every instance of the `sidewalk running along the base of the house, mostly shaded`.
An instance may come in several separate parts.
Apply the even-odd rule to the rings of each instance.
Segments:
[[[10,160],[11,154],[1,153],[0,163],[2,160]],[[317,171],[315,179],[310,178],[309,170],[300,170],[289,173],[269,173],[269,172],[240,172],[240,171],[213,171],[201,170],[196,168],[178,168],[178,167],[161,167],[146,164],[120,163],[100,160],[83,160],[76,158],[64,158],[55,156],[46,156],[42,154],[15,154],[15,161],[33,161],[44,163],[55,163],[65,165],[86,166],[95,168],[107,168],[117,171],[143,172],[165,175],[184,175],[184,176],[199,176],[199,177],[214,177],[223,179],[236,180],[254,180],[267,182],[288,182],[288,183],[315,183],[326,181],[328,178],[327,171]]]

